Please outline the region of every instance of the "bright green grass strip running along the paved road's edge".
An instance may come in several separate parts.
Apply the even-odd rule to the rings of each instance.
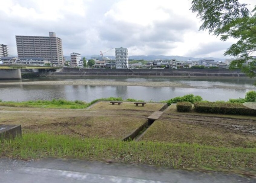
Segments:
[[[76,138],[47,133],[25,133],[0,143],[0,155],[22,159],[48,156],[140,162],[170,168],[246,168],[255,170],[256,148],[225,148],[186,143],[122,142]]]

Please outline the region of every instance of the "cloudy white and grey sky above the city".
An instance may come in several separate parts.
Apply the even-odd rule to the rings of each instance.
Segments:
[[[178,55],[227,58],[222,42],[190,9],[192,0],[0,0],[0,44],[17,55],[15,35],[62,39],[63,54]],[[254,0],[241,0],[253,9]]]

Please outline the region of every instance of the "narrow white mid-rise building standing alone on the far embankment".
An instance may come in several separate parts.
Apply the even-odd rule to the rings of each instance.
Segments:
[[[116,69],[129,69],[127,48],[116,48]]]

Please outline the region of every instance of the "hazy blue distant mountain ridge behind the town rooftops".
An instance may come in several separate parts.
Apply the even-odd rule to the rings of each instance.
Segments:
[[[66,60],[70,60],[70,56],[64,56]],[[87,56],[82,56],[85,57],[86,59],[90,59],[91,57],[101,57],[100,55],[87,55]],[[110,59],[115,59],[115,56],[104,56],[104,57],[108,57]],[[225,59],[220,59],[220,58],[214,58],[214,57],[200,57],[200,58],[194,58],[194,57],[185,57],[185,56],[166,56],[166,55],[133,55],[133,56],[129,56],[129,59],[134,59],[134,60],[155,60],[155,59],[176,59],[178,61],[187,61],[188,59],[191,60],[195,60],[198,61],[200,59],[214,59],[215,62],[217,61],[222,61],[224,62]]]

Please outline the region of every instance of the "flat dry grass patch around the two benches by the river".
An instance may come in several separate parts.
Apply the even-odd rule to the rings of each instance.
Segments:
[[[119,111],[119,110],[131,110],[131,111],[159,111],[165,103],[149,103],[147,102],[144,107],[136,106],[134,102],[123,102],[121,105],[112,105],[110,101],[101,101],[93,104],[88,110],[108,110],[108,111]]]

